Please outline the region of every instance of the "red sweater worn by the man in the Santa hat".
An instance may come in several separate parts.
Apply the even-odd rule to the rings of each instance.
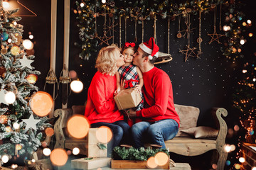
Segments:
[[[173,119],[179,125],[178,114],[174,108],[174,96],[171,80],[161,69],[154,67],[143,73],[144,109],[137,111],[146,121],[153,122]]]

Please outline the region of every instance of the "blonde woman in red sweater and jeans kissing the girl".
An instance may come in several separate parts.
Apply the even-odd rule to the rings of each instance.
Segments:
[[[115,73],[123,64],[124,56],[118,47],[102,47],[97,56],[97,72],[88,89],[85,107],[85,117],[90,121],[91,128],[107,126],[112,130],[112,141],[108,145],[109,156],[122,139],[126,142],[129,139],[129,125],[114,103],[114,91],[117,89]]]

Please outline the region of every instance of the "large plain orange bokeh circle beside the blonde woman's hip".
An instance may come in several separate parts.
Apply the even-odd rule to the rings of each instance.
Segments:
[[[68,120],[68,132],[75,138],[85,137],[90,128],[88,120],[83,115],[74,115]]]

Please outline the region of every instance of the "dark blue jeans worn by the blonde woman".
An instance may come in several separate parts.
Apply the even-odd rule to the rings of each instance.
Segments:
[[[107,145],[107,155],[110,156],[114,147],[117,147],[119,143],[129,143],[129,125],[124,120],[119,120],[114,123],[92,123],[91,128],[99,128],[100,126],[107,126],[112,130],[112,140]]]

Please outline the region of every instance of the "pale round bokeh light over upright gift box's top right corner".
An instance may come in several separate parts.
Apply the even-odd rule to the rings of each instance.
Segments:
[[[112,136],[112,131],[107,126],[101,126],[96,131],[96,138],[102,143],[110,142]]]

